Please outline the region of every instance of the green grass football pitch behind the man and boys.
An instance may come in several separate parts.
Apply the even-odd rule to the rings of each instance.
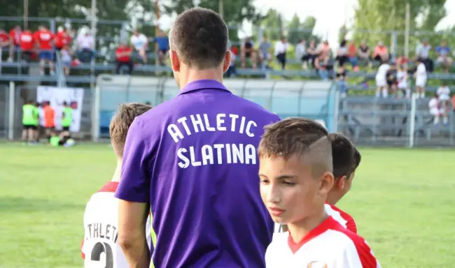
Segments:
[[[361,149],[340,207],[382,267],[454,267],[455,151]],[[0,143],[0,267],[82,267],[85,202],[111,179],[107,144]]]

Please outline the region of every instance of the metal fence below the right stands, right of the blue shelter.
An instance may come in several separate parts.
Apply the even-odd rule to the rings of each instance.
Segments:
[[[339,103],[338,131],[356,144],[392,147],[454,146],[455,117],[433,124],[429,99],[410,100],[353,96]]]

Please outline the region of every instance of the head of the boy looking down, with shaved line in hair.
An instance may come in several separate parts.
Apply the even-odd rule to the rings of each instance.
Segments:
[[[260,193],[275,222],[323,215],[334,178],[330,138],[321,124],[290,118],[269,125],[258,154]]]

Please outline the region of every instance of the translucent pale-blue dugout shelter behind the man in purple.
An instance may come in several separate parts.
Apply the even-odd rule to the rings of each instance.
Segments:
[[[225,80],[232,93],[258,103],[280,117],[309,117],[335,130],[336,87],[325,81]],[[109,136],[109,121],[120,103],[150,102],[158,105],[174,98],[174,79],[100,75],[94,91],[92,137]]]

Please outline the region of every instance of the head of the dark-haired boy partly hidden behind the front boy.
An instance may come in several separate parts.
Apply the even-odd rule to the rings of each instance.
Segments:
[[[332,142],[333,176],[335,183],[328,193],[327,202],[336,204],[349,190],[356,168],[360,165],[360,153],[347,137],[330,133]]]

